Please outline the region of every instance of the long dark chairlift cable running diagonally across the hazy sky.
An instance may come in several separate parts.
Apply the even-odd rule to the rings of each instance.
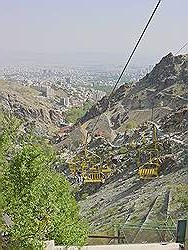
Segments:
[[[154,15],[155,15],[155,13],[156,13],[158,7],[159,7],[161,1],[162,1],[162,0],[159,0],[158,3],[157,3],[157,5],[155,6],[155,8],[154,8],[154,10],[153,10],[153,12],[152,12],[150,18],[148,19],[148,21],[147,21],[147,23],[146,23],[145,28],[143,29],[143,31],[142,31],[142,33],[141,33],[141,35],[140,35],[140,37],[139,37],[139,39],[138,39],[136,45],[134,46],[134,48],[133,48],[133,50],[132,50],[132,52],[131,52],[131,54],[130,54],[128,60],[127,60],[127,62],[125,63],[125,66],[123,67],[123,70],[122,70],[120,76],[118,77],[118,79],[117,79],[115,85],[113,86],[113,88],[112,88],[112,90],[111,90],[111,92],[110,92],[110,94],[109,94],[109,97],[108,97],[108,104],[109,104],[110,98],[112,97],[113,93],[115,92],[115,89],[116,89],[117,85],[119,84],[119,82],[120,82],[120,80],[121,80],[121,78],[122,78],[122,76],[123,76],[123,74],[124,74],[124,72],[125,72],[127,66],[129,65],[129,63],[130,63],[130,61],[131,61],[131,59],[132,59],[132,57],[133,57],[133,55],[134,55],[136,49],[138,48],[138,45],[140,44],[140,42],[141,42],[141,40],[142,40],[142,38],[143,38],[143,36],[144,36],[144,34],[145,34],[145,32],[146,32],[148,26],[150,25],[150,23],[151,23],[151,21],[152,21]],[[97,125],[97,123],[99,122],[100,116],[101,116],[101,114],[98,116],[96,122],[94,123],[94,126],[93,126],[93,128],[92,128],[92,130],[91,130],[91,135],[93,134],[93,132],[94,132],[94,130],[95,130],[95,128],[96,128],[96,125]],[[86,146],[86,144],[87,144],[87,139],[88,139],[88,133],[87,133],[87,135],[86,135],[85,146]]]

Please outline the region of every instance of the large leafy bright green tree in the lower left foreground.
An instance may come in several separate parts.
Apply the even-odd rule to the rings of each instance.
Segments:
[[[32,136],[19,136],[18,123],[0,131],[2,210],[11,249],[43,249],[45,240],[83,245],[87,225],[64,176],[53,170],[52,148]]]

